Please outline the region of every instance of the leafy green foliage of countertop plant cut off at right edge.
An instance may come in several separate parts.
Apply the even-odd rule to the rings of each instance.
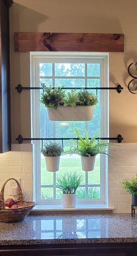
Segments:
[[[137,195],[137,175],[131,180],[123,180],[123,187],[131,195]]]

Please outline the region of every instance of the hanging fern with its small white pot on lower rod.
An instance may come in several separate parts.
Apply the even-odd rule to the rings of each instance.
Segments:
[[[109,143],[96,140],[99,133],[95,133],[92,138],[89,138],[88,131],[85,128],[85,138],[82,136],[77,127],[74,127],[75,135],[78,140],[74,141],[74,147],[71,148],[70,152],[81,156],[82,170],[91,171],[95,166],[95,158],[98,154],[107,154],[107,147]]]

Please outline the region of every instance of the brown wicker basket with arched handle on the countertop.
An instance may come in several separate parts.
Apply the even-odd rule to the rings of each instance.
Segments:
[[[5,209],[4,202],[4,190],[5,185],[9,180],[15,180],[18,188],[18,196],[15,201],[15,204],[19,205],[20,208],[10,208]],[[24,201],[23,192],[21,190],[19,182],[11,177],[3,184],[1,193],[0,193],[0,222],[19,222],[23,221],[23,219],[30,213],[31,209],[35,206],[35,202],[33,201]]]

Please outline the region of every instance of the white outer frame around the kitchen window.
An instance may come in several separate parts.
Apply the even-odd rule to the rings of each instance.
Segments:
[[[66,61],[65,61],[66,60]],[[93,52],[30,52],[30,80],[31,87],[39,87],[39,63],[42,62],[58,62],[58,63],[100,63],[100,87],[109,87],[109,54],[108,53],[93,53]],[[96,78],[96,77],[95,77]],[[100,90],[102,97],[100,97],[100,116],[102,122],[100,130],[102,130],[102,137],[109,137],[109,90]],[[31,136],[39,137],[39,90],[31,90]],[[34,199],[37,205],[51,204],[51,200],[41,200],[40,175],[38,172],[41,165],[40,151],[41,141],[33,141],[35,144],[34,151]],[[37,159],[37,161],[35,161]],[[90,204],[104,204],[108,205],[108,184],[107,184],[107,157],[100,155],[100,162],[102,169],[100,171],[100,200],[90,199]],[[52,204],[60,204],[59,200],[52,200]],[[79,204],[88,204],[86,200],[78,200]]]

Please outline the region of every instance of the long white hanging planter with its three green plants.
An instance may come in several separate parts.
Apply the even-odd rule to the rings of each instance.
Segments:
[[[48,108],[49,120],[88,121],[93,118],[93,107],[98,99],[89,91],[45,87],[41,102]]]

